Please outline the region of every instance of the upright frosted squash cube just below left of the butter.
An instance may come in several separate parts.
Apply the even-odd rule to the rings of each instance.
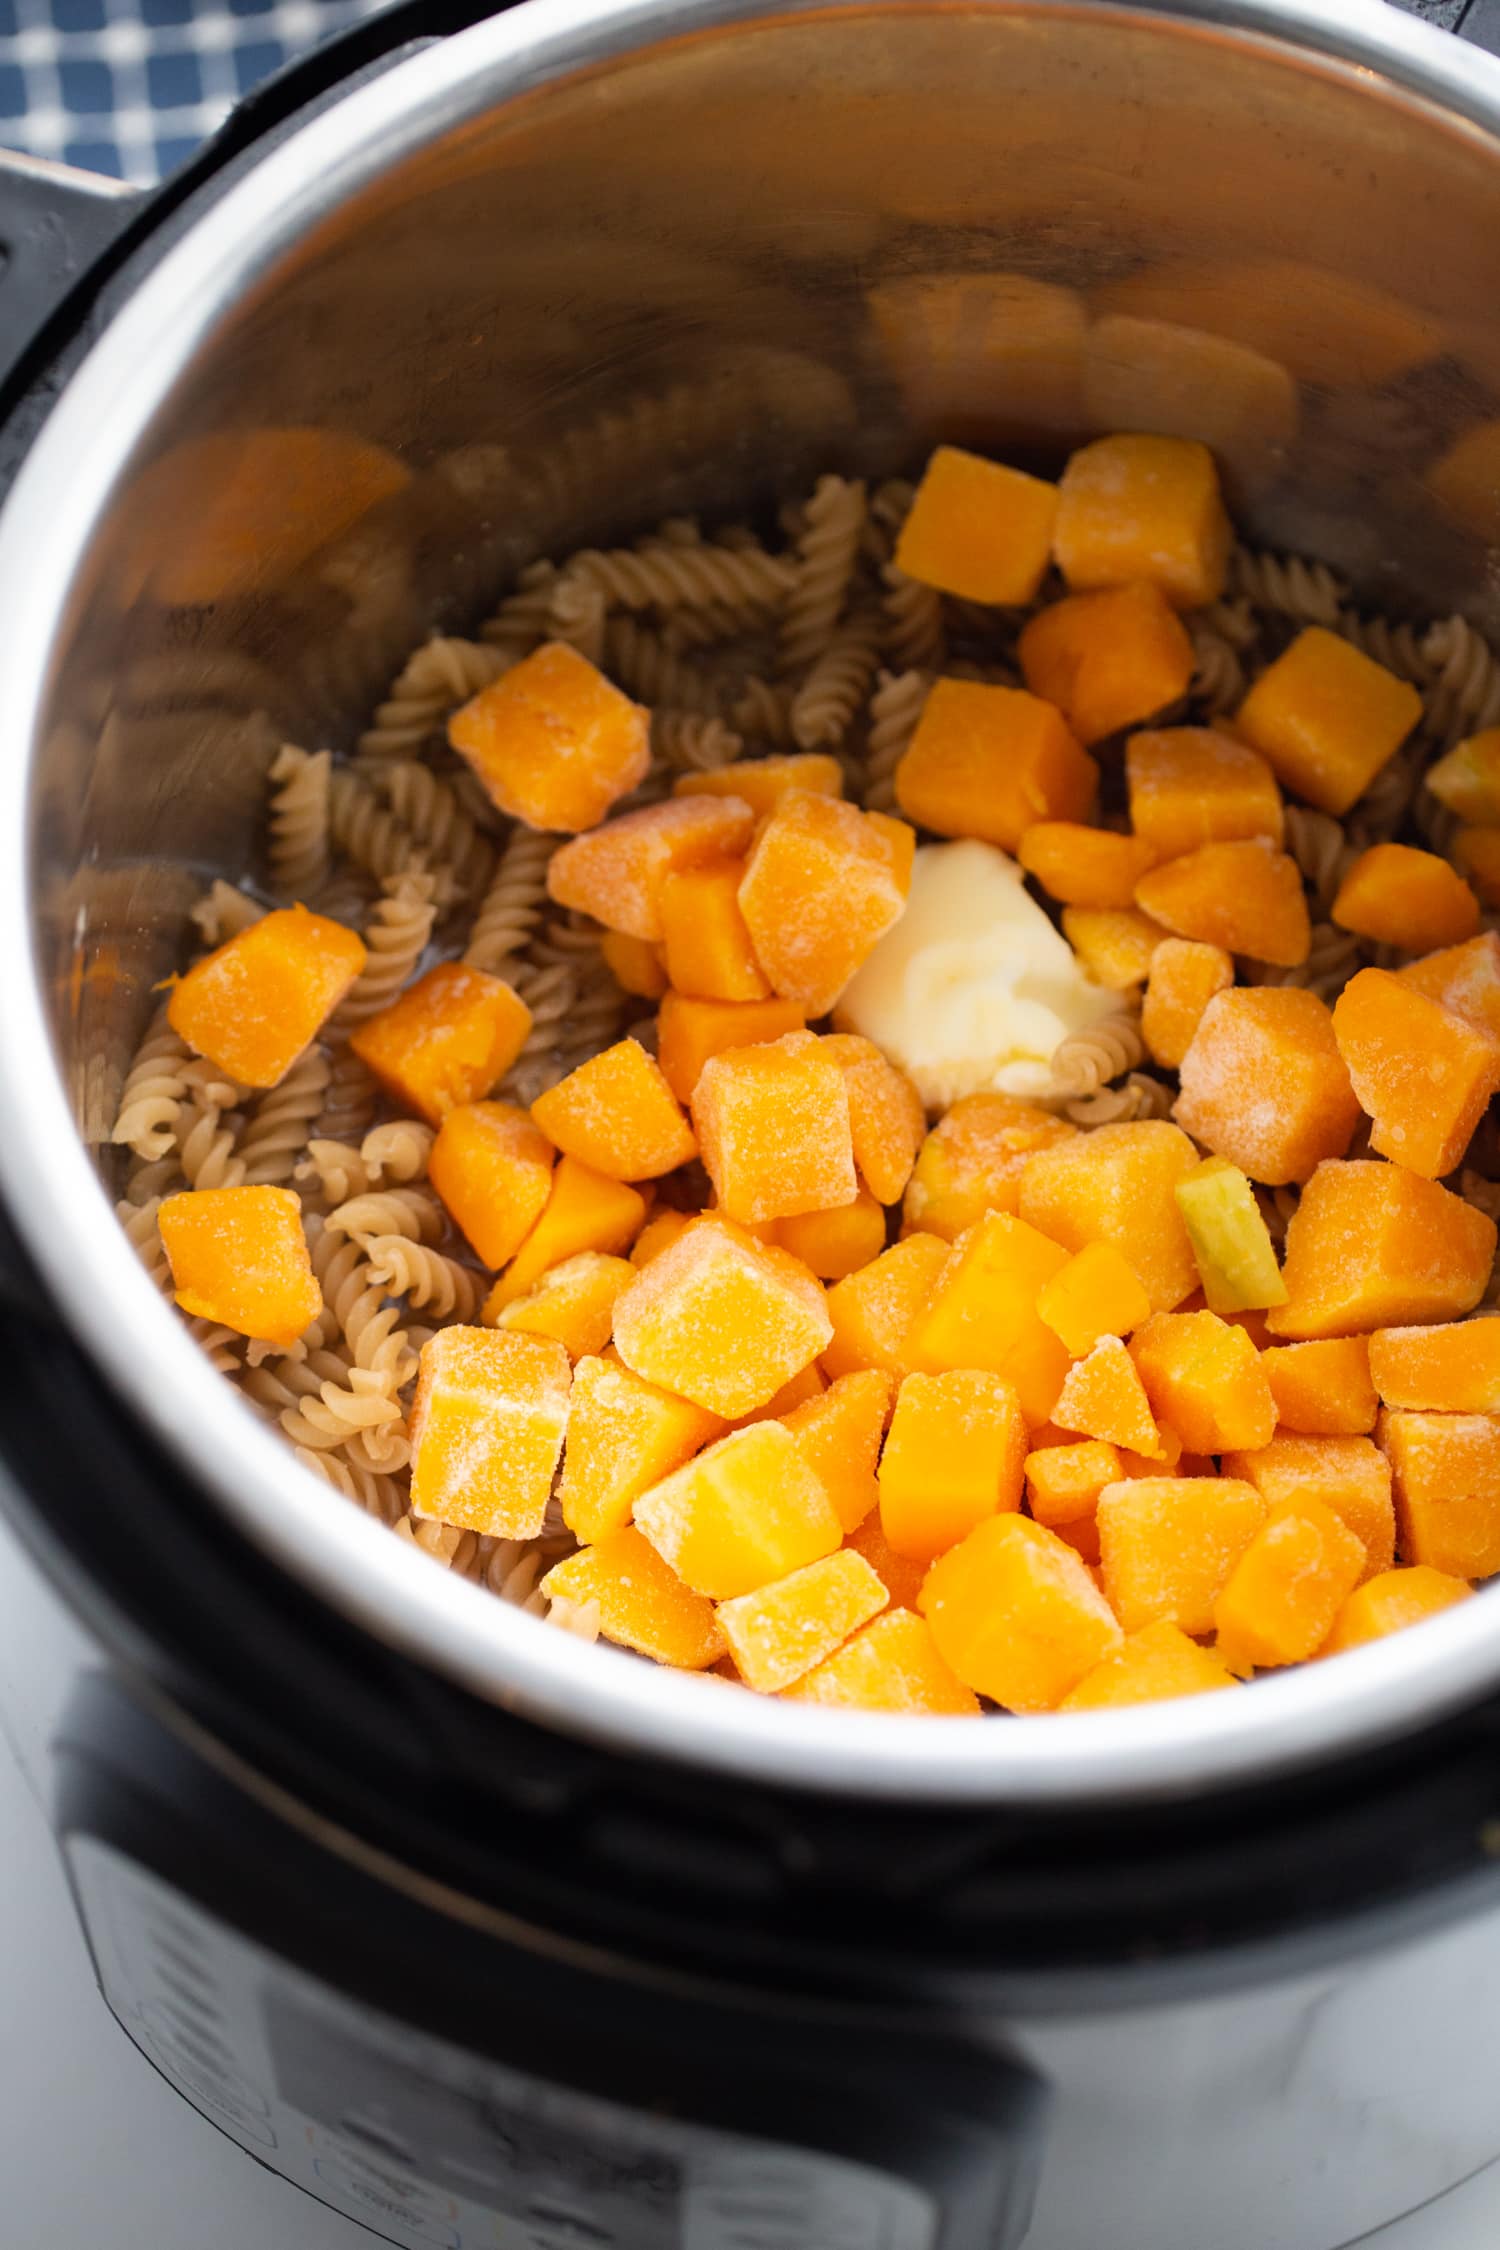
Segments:
[[[810,1030],[713,1055],[693,1125],[720,1208],[747,1226],[859,1195],[843,1071]]]

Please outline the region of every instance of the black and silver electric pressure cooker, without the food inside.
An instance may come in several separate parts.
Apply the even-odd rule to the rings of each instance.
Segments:
[[[9,1724],[126,2034],[371,2234],[1334,2250],[1500,2156],[1493,1598],[1124,1714],[672,1676],[317,1490],[108,1163],[277,740],[537,554],[1165,428],[1493,630],[1500,9],[1428,14],[434,0],[153,198],[0,169],[2,1498],[85,1636]]]

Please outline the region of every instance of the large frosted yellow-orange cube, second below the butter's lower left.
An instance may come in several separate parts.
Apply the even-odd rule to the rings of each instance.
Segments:
[[[614,1307],[614,1348],[625,1366],[726,1422],[776,1397],[830,1336],[823,1292],[807,1267],[720,1217],[688,1226]]]

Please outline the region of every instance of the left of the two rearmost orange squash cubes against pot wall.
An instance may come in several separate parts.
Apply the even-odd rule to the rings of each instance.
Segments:
[[[895,567],[965,601],[1034,601],[1055,520],[1055,484],[938,446],[895,542]]]

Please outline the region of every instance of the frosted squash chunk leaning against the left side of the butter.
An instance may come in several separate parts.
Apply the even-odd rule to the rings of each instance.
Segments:
[[[904,821],[812,790],[785,792],[760,826],[740,884],[740,911],[774,992],[801,1001],[807,1015],[828,1015],[902,918],[913,842]]]

